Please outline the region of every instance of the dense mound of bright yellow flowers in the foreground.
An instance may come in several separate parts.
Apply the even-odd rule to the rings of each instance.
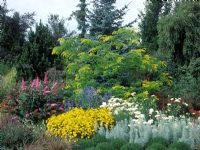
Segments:
[[[66,113],[51,116],[47,120],[47,131],[62,138],[90,138],[102,125],[107,128],[114,125],[113,115],[108,108],[74,108]]]

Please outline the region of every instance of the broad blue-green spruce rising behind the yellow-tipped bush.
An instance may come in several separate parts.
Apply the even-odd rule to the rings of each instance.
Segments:
[[[127,5],[117,9],[114,6],[116,0],[93,0],[92,3],[93,9],[88,15],[90,36],[110,35],[114,30],[122,27]]]

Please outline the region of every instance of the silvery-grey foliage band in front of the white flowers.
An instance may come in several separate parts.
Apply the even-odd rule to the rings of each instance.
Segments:
[[[98,132],[108,139],[120,138],[142,146],[145,146],[152,138],[162,137],[168,143],[181,141],[194,149],[195,145],[199,144],[199,125],[200,118],[194,121],[190,118],[163,116],[154,124],[148,124],[144,120],[132,119],[129,122],[124,120],[116,122],[110,130],[101,127]],[[167,144],[165,140],[160,140],[162,145]]]

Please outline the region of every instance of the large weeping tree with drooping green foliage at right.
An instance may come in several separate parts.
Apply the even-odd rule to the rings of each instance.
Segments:
[[[199,63],[199,17],[199,3],[183,2],[174,10],[173,13],[169,16],[163,17],[159,21],[158,30],[160,50],[163,53],[168,52],[169,58],[177,67]],[[200,70],[193,74],[200,75],[199,73]]]

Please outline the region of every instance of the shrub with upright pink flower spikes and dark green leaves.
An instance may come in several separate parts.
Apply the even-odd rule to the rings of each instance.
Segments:
[[[48,82],[48,74],[44,80],[38,77],[30,82],[23,79],[20,88],[15,89],[7,98],[7,110],[20,118],[31,119],[34,122],[46,119],[52,114],[62,113],[62,88],[64,83]]]

